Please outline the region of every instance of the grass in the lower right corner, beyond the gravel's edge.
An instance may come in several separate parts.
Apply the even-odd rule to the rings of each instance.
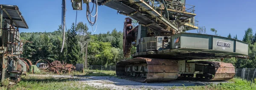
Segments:
[[[256,84],[238,78],[229,80],[228,83],[210,84],[206,86],[166,87],[170,90],[256,90]]]

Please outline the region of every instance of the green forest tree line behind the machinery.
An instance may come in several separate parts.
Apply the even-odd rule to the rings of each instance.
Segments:
[[[207,34],[205,27],[198,28],[199,34]],[[215,28],[212,32],[217,34]],[[79,22],[76,26],[73,23],[65,33],[65,44],[61,53],[63,32],[61,26],[53,32],[31,32],[20,33],[21,39],[32,41],[23,45],[22,57],[35,63],[39,59],[47,59],[49,62],[54,60],[64,61],[71,64],[83,63],[86,58],[85,51],[87,46],[88,65],[115,65],[116,62],[128,59],[123,55],[122,49],[122,30],[108,31],[104,34],[91,34],[85,23]],[[238,39],[237,35],[228,38]],[[248,56],[250,59],[224,59],[223,62],[232,63],[236,68],[256,68],[256,33],[253,34],[252,28],[245,30],[242,41],[249,44]],[[130,57],[131,58],[131,57]],[[220,59],[212,59],[220,61]],[[210,60],[211,61],[211,60]]]

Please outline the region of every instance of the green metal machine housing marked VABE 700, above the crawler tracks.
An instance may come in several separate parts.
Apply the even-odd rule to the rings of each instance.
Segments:
[[[132,48],[133,57],[216,59],[248,55],[248,43],[215,35],[185,33],[143,37]]]

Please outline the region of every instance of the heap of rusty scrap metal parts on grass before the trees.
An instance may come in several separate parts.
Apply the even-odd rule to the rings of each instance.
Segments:
[[[41,59],[41,60],[47,61],[47,60],[45,60],[45,59]],[[41,60],[38,60],[38,62],[41,61]],[[36,64],[37,64],[38,62],[36,62]],[[65,63],[65,64],[64,64],[64,62],[62,62],[62,64],[61,64],[61,62],[58,61],[58,60],[55,60],[55,61],[53,61],[53,62],[51,62],[51,63],[49,63],[49,62],[47,61],[47,63],[48,63],[48,65],[49,65],[49,67],[46,68],[46,70],[47,70],[48,72],[53,72],[53,73],[58,73],[58,74],[60,74],[60,73],[70,73],[71,71],[76,70],[76,67],[73,66],[72,64],[68,64],[68,63]]]

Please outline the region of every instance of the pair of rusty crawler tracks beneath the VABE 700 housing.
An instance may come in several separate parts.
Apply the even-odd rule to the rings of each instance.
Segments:
[[[137,82],[169,82],[175,79],[225,81],[235,76],[235,67],[230,63],[206,61],[188,63],[195,63],[194,70],[181,72],[179,68],[183,67],[179,67],[176,60],[137,57],[118,62],[116,76]]]

